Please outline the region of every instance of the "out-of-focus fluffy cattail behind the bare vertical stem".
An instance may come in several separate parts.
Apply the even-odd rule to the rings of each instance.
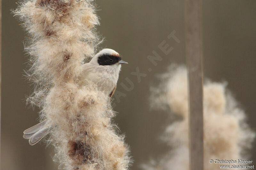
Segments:
[[[151,160],[142,167],[189,170],[187,70],[172,65],[160,80],[159,87],[152,90],[153,107],[167,108],[171,115],[181,119],[167,126],[162,137],[172,150],[162,159]],[[225,165],[210,164],[210,159],[248,159],[246,151],[252,147],[254,137],[255,133],[245,122],[244,111],[227,92],[226,83],[207,81],[204,84],[204,169],[218,170],[220,165]]]

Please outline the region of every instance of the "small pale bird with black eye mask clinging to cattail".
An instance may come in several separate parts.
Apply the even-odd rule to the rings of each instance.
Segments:
[[[78,84],[79,86],[95,85],[98,91],[111,97],[116,90],[121,64],[127,62],[121,60],[115,50],[102,49],[89,63],[82,65],[83,71]],[[30,145],[36,144],[50,132],[52,127],[45,127],[46,122],[47,119],[23,132],[23,137],[29,139]]]

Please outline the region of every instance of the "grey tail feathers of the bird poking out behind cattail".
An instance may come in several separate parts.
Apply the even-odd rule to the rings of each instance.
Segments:
[[[29,144],[34,145],[45,137],[52,128],[44,127],[46,120],[38,123],[37,125],[26,129],[23,133],[25,139],[29,139]]]

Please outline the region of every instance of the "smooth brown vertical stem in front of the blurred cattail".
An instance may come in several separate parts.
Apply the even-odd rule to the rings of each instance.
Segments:
[[[204,169],[203,43],[201,0],[185,1],[186,58],[189,93],[190,170]]]

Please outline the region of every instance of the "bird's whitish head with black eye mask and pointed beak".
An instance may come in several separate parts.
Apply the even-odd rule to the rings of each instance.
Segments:
[[[120,68],[120,64],[127,64],[127,62],[121,60],[120,55],[115,50],[109,48],[102,49],[92,58],[90,63],[99,66],[117,68]]]

